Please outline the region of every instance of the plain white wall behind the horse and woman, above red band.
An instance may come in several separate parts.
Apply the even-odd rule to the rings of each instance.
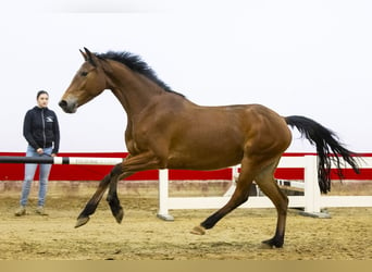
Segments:
[[[109,90],[73,115],[58,107],[83,47],[138,53],[197,103],[262,103],[372,151],[371,1],[15,2],[0,16],[0,151],[25,150],[39,89],[59,115],[61,151],[126,150],[126,115]],[[313,149],[297,139],[288,151]]]

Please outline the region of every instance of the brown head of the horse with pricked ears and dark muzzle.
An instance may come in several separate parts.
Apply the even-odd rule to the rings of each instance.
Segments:
[[[107,78],[102,67],[102,60],[88,49],[80,50],[85,62],[77,71],[69,88],[63,94],[59,106],[64,112],[74,113],[107,88]]]

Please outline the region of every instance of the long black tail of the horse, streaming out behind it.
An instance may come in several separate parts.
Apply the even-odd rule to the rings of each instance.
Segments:
[[[332,162],[335,162],[337,165],[337,175],[339,178],[344,177],[340,157],[359,174],[359,168],[354,152],[343,147],[335,133],[305,116],[287,116],[285,121],[289,126],[296,127],[311,145],[317,147],[319,158],[318,178],[322,193],[326,194],[331,190],[330,174]]]

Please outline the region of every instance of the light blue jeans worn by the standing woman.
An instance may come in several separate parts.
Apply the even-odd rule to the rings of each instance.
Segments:
[[[44,148],[44,154],[38,154],[36,150],[32,147],[27,147],[26,157],[46,157],[50,156],[52,152],[52,147]],[[48,188],[48,178],[49,173],[51,170],[51,164],[37,164],[37,163],[26,163],[25,164],[25,180],[23,181],[22,185],[22,194],[21,194],[21,206],[26,206],[28,200],[28,195],[30,190],[30,186],[35,176],[35,172],[39,165],[39,198],[38,198],[38,206],[44,206],[47,196],[47,188]]]

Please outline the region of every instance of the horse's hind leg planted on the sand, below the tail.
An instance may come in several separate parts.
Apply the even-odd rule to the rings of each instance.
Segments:
[[[263,246],[269,248],[283,247],[288,208],[288,198],[280,189],[274,178],[274,171],[276,169],[276,165],[277,163],[272,164],[255,177],[255,181],[260,189],[271,199],[277,211],[275,235],[271,239],[262,242]]]

